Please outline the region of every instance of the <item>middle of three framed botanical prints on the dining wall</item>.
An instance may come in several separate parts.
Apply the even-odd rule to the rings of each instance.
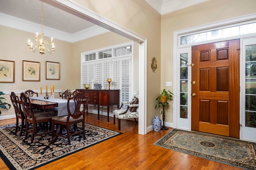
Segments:
[[[40,62],[22,61],[22,81],[40,82]]]

